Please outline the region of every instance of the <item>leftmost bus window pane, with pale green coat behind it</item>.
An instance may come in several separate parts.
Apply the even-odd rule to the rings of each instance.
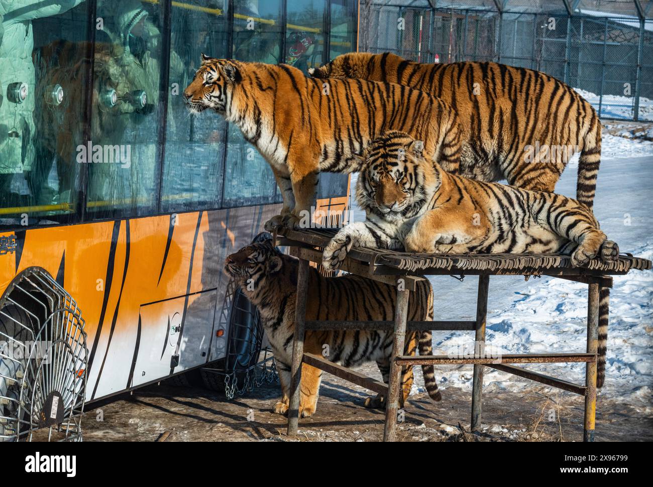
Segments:
[[[83,0],[0,1],[0,226],[73,221],[91,44]]]

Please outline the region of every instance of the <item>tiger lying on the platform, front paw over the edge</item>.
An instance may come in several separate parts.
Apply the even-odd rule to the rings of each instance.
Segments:
[[[366,221],[342,228],[325,248],[337,268],[353,246],[421,253],[562,253],[574,266],[619,249],[592,211],[566,196],[455,176],[426,161],[423,144],[390,132],[364,151],[356,197]],[[605,377],[607,289],[599,303],[597,385]]]

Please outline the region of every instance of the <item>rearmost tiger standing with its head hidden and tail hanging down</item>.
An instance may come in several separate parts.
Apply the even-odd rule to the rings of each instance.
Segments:
[[[594,204],[601,123],[592,105],[543,72],[497,63],[421,64],[398,55],[350,53],[309,70],[316,78],[399,83],[443,99],[458,114],[470,151],[460,174],[552,193],[581,151],[576,198]],[[533,162],[535,161],[535,162]]]

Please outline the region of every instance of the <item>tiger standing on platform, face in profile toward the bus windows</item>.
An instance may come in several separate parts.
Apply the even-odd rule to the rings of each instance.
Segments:
[[[215,110],[237,125],[272,166],[292,228],[315,204],[319,171],[358,171],[358,153],[401,129],[426,140],[426,157],[456,172],[460,126],[454,110],[422,91],[362,80],[317,80],[288,65],[244,63],[202,54],[183,92],[194,112]],[[270,228],[270,225],[267,226]]]

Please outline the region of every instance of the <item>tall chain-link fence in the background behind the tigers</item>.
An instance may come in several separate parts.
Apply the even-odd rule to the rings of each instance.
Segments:
[[[575,87],[602,118],[653,120],[653,19],[569,15],[562,1],[538,13],[466,3],[362,0],[359,50],[421,63],[495,61],[536,69]]]

